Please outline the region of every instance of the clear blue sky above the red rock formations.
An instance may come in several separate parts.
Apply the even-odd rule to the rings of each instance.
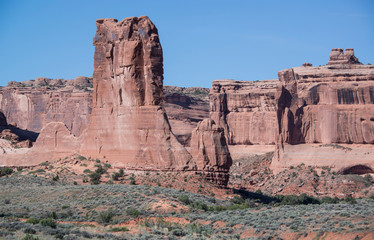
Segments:
[[[273,79],[331,48],[374,64],[372,0],[0,0],[0,86],[92,76],[96,19],[141,15],[159,30],[165,85]]]

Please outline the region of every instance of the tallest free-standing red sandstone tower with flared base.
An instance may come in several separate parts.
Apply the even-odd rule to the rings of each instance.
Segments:
[[[81,152],[133,169],[192,167],[162,107],[156,27],[148,17],[100,19],[96,25],[93,109]]]

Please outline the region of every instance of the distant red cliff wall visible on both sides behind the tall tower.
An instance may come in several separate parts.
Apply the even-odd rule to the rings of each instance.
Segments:
[[[48,123],[61,121],[79,136],[89,122],[92,92],[92,78],[83,76],[72,80],[39,77],[13,81],[0,89],[0,107],[10,123],[19,128],[40,132]],[[208,93],[206,88],[164,87],[164,108],[170,125],[185,146],[189,146],[197,123],[209,117]]]

